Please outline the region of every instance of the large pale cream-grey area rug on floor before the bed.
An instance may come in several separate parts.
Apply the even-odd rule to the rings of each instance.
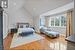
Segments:
[[[14,34],[10,48],[25,45],[25,44],[28,44],[34,41],[38,41],[41,39],[44,39],[44,37],[38,34],[31,34],[31,35],[24,36],[24,37],[18,37],[16,34]]]

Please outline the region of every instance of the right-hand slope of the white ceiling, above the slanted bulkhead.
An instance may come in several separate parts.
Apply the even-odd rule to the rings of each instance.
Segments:
[[[24,8],[32,15],[39,16],[42,13],[53,10],[73,0],[25,0]]]

